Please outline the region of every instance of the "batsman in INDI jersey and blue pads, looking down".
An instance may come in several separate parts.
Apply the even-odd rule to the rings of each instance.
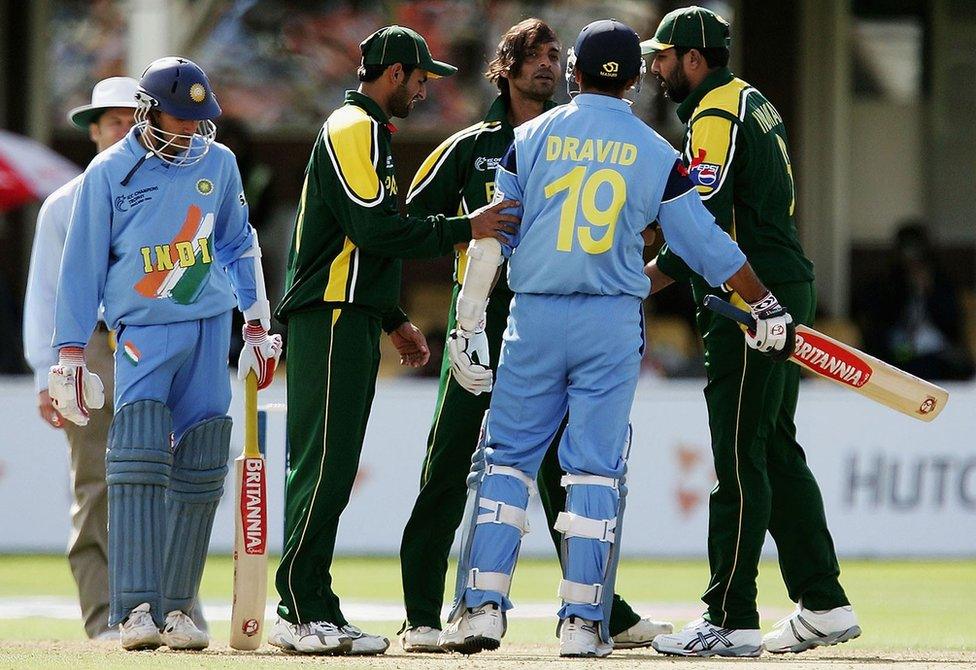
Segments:
[[[99,154],[76,196],[58,282],[49,389],[78,425],[104,401],[85,365],[99,306],[115,331],[109,432],[109,624],[126,649],[203,649],[187,616],[200,584],[230,447],[231,309],[244,313],[243,378],[271,383],[261,248],[220,106],[183,58],[149,65],[136,124]],[[236,297],[235,297],[236,293]]]

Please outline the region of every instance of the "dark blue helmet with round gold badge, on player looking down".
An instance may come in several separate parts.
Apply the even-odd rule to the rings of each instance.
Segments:
[[[186,58],[154,60],[139,79],[139,92],[152,98],[156,108],[178,119],[212,121],[220,116],[220,105],[206,73]]]

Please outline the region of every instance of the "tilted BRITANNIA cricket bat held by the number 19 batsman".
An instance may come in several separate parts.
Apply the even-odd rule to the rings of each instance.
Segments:
[[[752,314],[716,295],[705,296],[705,307],[747,328],[756,327]],[[944,388],[802,324],[796,326],[796,350],[790,361],[920,421],[933,420],[949,400]]]

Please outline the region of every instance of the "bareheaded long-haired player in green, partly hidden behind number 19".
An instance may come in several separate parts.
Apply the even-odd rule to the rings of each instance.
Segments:
[[[560,45],[552,29],[539,19],[512,26],[496,50],[486,77],[499,88],[484,121],[450,136],[423,162],[407,195],[411,215],[463,214],[482,207],[494,195],[495,167],[515,138],[514,127],[554,107],[551,98],[562,82]],[[464,283],[467,254],[457,252],[448,332],[456,326],[456,302]],[[504,268],[488,303],[489,359],[498,361],[502,333],[508,320],[512,292]],[[484,363],[485,361],[482,361]],[[440,388],[420,494],[403,531],[400,565],[407,621],[401,644],[408,652],[439,652],[444,579],[454,535],[461,523],[467,495],[465,478],[477,446],[490,393],[473,395],[451,375],[447,353],[441,365]],[[561,535],[553,530],[556,515],[565,509],[563,471],[556,455],[560,430],[539,471],[539,495],[557,553]],[[671,624],[641,619],[619,596],[614,597],[610,633],[618,649],[644,647]]]

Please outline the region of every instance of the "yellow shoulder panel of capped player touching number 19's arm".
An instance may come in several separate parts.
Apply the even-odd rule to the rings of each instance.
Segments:
[[[325,147],[339,182],[350,199],[373,207],[383,200],[384,190],[376,172],[378,124],[360,107],[345,105],[325,122]]]

